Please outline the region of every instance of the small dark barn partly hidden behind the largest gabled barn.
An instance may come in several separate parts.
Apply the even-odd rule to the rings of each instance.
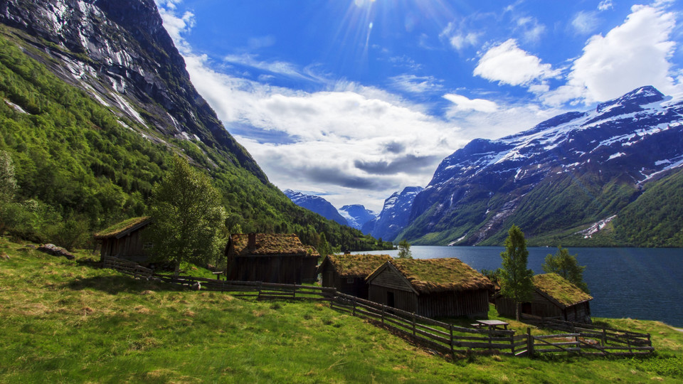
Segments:
[[[318,273],[323,287],[334,287],[338,292],[367,299],[366,277],[388,260],[391,260],[389,255],[327,255]]]

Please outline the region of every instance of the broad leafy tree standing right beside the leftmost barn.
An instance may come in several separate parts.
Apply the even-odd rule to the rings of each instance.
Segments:
[[[219,257],[225,238],[225,210],[211,179],[174,157],[169,174],[152,191],[150,228],[154,255],[172,262],[208,262]]]

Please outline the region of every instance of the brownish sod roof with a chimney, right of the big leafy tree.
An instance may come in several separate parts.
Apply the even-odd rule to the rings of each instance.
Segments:
[[[248,233],[231,235],[235,255],[308,255],[319,257],[319,253],[310,245],[303,245],[294,233],[257,233],[256,246],[248,247]]]

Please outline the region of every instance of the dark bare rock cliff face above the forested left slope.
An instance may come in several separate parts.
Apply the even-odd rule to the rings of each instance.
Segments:
[[[194,140],[263,183],[263,171],[191,84],[152,0],[6,0],[0,23],[26,53],[125,119],[145,137]]]

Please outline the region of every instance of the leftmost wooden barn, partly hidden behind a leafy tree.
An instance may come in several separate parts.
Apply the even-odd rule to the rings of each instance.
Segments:
[[[147,216],[129,218],[95,233],[95,240],[100,242],[100,260],[101,257],[113,256],[139,263],[147,262],[152,243],[145,242],[142,233],[151,223],[152,219]]]

